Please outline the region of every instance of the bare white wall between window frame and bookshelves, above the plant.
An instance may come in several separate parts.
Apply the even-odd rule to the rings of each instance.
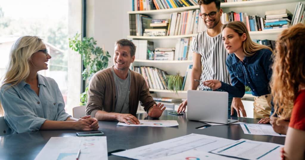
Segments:
[[[129,35],[129,15],[132,0],[87,0],[87,37],[93,37],[99,47],[105,46],[112,56],[114,43]],[[109,59],[109,65],[113,59]]]

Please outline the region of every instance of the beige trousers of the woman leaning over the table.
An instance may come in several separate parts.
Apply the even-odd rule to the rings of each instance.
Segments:
[[[254,97],[253,118],[269,117],[271,114],[271,94]]]

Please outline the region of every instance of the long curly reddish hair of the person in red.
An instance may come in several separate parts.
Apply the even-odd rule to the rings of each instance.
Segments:
[[[296,24],[278,36],[270,87],[274,111],[291,116],[299,85],[305,86],[305,25]]]

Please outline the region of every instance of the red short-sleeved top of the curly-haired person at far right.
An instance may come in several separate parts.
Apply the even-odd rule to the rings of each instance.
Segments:
[[[289,127],[305,131],[305,89],[298,92],[293,105]]]

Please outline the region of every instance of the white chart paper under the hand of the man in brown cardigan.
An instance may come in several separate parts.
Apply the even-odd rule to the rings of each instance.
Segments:
[[[178,122],[176,120],[139,120],[140,123],[138,125],[135,124],[126,124],[119,122],[117,125],[123,125],[123,126],[149,126],[149,127],[173,127],[178,126]]]

